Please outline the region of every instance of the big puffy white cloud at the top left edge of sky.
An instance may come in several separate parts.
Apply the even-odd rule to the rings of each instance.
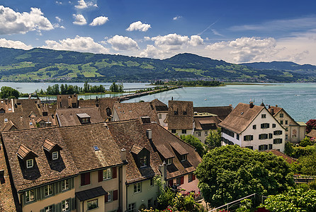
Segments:
[[[30,13],[18,13],[9,7],[0,6],[0,34],[28,33],[33,30],[54,29],[40,8],[30,8]]]

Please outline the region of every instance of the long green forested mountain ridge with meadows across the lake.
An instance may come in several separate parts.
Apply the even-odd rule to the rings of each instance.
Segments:
[[[23,50],[0,47],[0,58],[1,81],[202,79],[241,82],[297,82],[315,81],[316,78],[314,69],[269,69],[269,66],[261,69],[262,66],[259,64],[254,64],[253,67],[250,64],[230,64],[226,61],[188,53],[177,54],[169,59],[161,60],[41,48]]]

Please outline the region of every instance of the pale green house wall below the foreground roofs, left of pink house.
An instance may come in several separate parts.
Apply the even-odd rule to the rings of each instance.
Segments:
[[[134,193],[134,184],[126,185],[126,189],[128,192],[127,204],[135,203],[136,210],[140,210],[140,206],[142,204],[145,205],[145,208],[148,207],[148,200],[152,199],[152,204],[157,199],[157,194],[159,192],[159,187],[154,184],[154,186],[150,186],[150,180],[142,181],[141,192]]]

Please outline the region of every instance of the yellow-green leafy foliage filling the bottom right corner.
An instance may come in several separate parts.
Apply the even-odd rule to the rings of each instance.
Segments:
[[[290,189],[289,192],[269,196],[261,204],[271,212],[310,212],[316,211],[316,191]]]

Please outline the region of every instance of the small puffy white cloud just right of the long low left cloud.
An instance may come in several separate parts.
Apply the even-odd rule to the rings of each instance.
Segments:
[[[121,35],[115,35],[114,37],[108,39],[108,43],[112,45],[112,48],[115,51],[140,49],[135,40],[132,40],[132,38],[130,37],[124,37]]]

